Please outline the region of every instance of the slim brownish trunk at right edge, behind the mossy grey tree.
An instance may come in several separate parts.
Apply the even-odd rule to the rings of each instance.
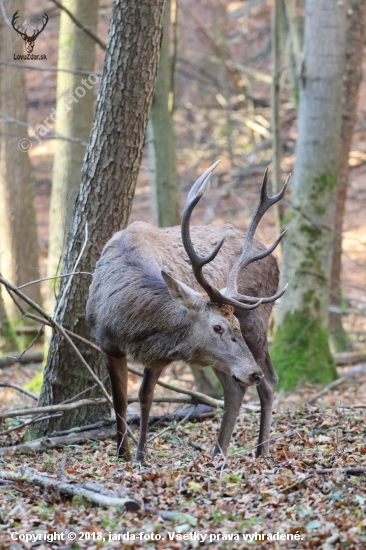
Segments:
[[[347,333],[341,313],[342,225],[348,186],[348,157],[357,115],[358,91],[362,79],[362,56],[366,28],[366,2],[350,0],[346,34],[346,69],[342,90],[342,147],[339,155],[339,190],[335,215],[335,235],[330,285],[330,305],[338,309],[329,314],[331,342],[335,351],[347,347]]]

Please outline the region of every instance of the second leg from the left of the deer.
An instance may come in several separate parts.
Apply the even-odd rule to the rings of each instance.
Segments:
[[[141,407],[140,438],[136,451],[136,462],[142,462],[146,454],[147,430],[149,427],[149,414],[154,397],[156,382],[164,367],[144,369],[144,377],[139,389],[139,401]]]

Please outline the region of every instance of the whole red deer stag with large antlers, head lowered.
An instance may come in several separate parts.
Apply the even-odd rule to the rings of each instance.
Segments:
[[[256,385],[261,403],[257,456],[268,453],[277,382],[268,355],[268,319],[285,291],[276,294],[279,270],[271,253],[285,232],[267,249],[254,233],[268,208],[283,197],[288,178],[282,191],[269,197],[266,171],[246,233],[231,224],[190,227],[192,211],[218,164],[193,185],[181,227],[157,229],[135,222],[108,241],[95,268],[87,320],[107,358],[117,455],[126,460],[131,459],[126,356],[144,366],[136,461],[145,458],[155,384],[174,360],[210,365],[222,384],[225,412],[214,454],[227,453],[245,390]]]

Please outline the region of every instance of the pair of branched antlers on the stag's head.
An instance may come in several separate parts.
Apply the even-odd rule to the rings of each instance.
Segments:
[[[208,294],[212,302],[219,303],[219,304],[229,304],[237,309],[255,309],[260,304],[263,304],[263,303],[268,304],[270,302],[274,302],[284,294],[287,288],[287,285],[286,285],[281,292],[278,292],[273,296],[268,296],[265,298],[246,296],[244,294],[238,293],[237,279],[242,269],[247,267],[252,262],[261,260],[262,258],[269,256],[269,254],[271,254],[274,251],[274,249],[281,242],[283,236],[285,235],[287,230],[283,231],[283,233],[281,233],[281,235],[276,239],[276,241],[272,244],[272,246],[270,246],[266,250],[255,252],[252,248],[254,233],[257,229],[259,221],[261,220],[265,212],[268,210],[268,208],[270,208],[273,204],[276,204],[276,202],[282,199],[286,191],[286,187],[290,179],[290,176],[287,177],[285,185],[283,186],[282,190],[277,195],[274,195],[273,197],[269,197],[267,194],[268,169],[265,171],[264,177],[263,177],[262,189],[261,189],[261,198],[256,208],[256,211],[252,217],[252,220],[249,224],[249,227],[245,236],[245,240],[244,240],[242,253],[240,254],[239,258],[237,259],[237,261],[235,262],[235,264],[230,270],[226,288],[223,290],[218,290],[213,288],[210,285],[210,283],[206,280],[202,272],[202,268],[204,265],[211,262],[217,256],[220,248],[222,247],[225,241],[225,237],[221,239],[221,241],[215,246],[214,250],[210,254],[208,254],[207,256],[199,256],[197,252],[194,250],[194,247],[192,244],[189,223],[190,223],[190,218],[191,218],[193,209],[196,206],[196,204],[200,201],[206,189],[208,179],[211,173],[213,172],[213,170],[219,164],[219,162],[220,161],[215,162],[215,164],[210,166],[210,168],[208,168],[206,172],[204,172],[202,176],[198,178],[198,180],[193,185],[192,189],[188,194],[186,204],[184,206],[183,215],[182,215],[182,227],[181,227],[182,242],[188,254],[188,257],[191,260],[194,276],[198,284],[205,290],[205,292]]]

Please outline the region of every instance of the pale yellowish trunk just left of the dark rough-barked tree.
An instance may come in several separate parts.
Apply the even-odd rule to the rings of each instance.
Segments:
[[[63,5],[96,33],[98,0],[64,0]],[[68,14],[61,10],[58,44],[58,68],[94,70],[95,42],[79,29]],[[93,78],[94,80],[94,78]],[[57,74],[57,104],[55,131],[65,136],[88,141],[94,111],[94,86],[85,76],[59,72]],[[48,277],[61,270],[67,231],[72,218],[75,198],[81,181],[85,146],[63,139],[56,141],[53,159],[50,235],[48,247]],[[58,282],[49,281],[48,309],[54,310]]]

